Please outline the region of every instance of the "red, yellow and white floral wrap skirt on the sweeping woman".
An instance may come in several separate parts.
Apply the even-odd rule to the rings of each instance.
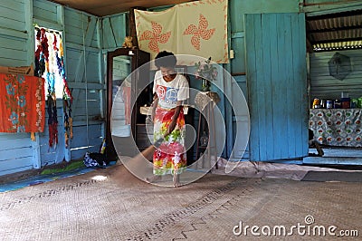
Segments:
[[[175,109],[157,108],[154,120],[154,140],[162,138],[175,114]],[[176,128],[156,149],[153,155],[154,175],[180,174],[186,169],[185,149],[186,125],[181,109],[176,120]]]

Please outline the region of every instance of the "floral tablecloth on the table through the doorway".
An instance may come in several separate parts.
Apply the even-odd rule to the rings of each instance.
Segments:
[[[362,147],[361,109],[311,109],[310,130],[320,144]]]

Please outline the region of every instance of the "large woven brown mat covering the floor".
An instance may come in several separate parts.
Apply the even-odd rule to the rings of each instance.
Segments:
[[[116,166],[1,193],[0,240],[260,240],[265,235],[253,236],[250,228],[239,234],[241,222],[289,230],[312,217],[311,225],[357,229],[360,200],[357,183],[207,174],[180,188],[163,188]],[[297,233],[277,237],[310,239]]]

